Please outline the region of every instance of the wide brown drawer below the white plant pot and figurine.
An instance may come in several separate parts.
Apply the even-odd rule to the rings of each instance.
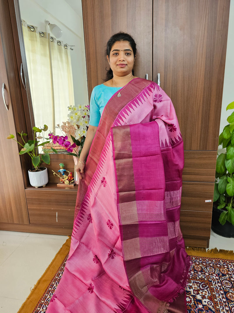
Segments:
[[[72,228],[76,192],[26,190],[31,225]]]

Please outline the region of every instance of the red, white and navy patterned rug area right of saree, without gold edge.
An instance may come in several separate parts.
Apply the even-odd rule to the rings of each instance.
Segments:
[[[234,261],[191,256],[188,313],[234,313]]]

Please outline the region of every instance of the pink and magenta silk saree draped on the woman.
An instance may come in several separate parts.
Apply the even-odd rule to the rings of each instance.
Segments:
[[[69,257],[46,313],[187,312],[175,110],[149,80],[116,95],[79,183]]]

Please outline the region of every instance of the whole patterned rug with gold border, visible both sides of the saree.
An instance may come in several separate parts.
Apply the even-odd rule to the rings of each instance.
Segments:
[[[67,246],[69,245],[69,239],[66,244]],[[32,290],[32,295],[29,295],[18,313],[46,312],[47,305],[63,274],[68,257],[68,251],[66,249],[63,249],[63,254],[67,254],[60,265],[57,264],[57,271],[48,282],[47,288],[40,290],[42,295],[41,298],[38,298],[40,300],[35,302],[35,298],[33,305],[31,299],[33,292],[39,287],[42,288],[42,286],[38,287],[38,284],[40,284],[40,281],[38,281],[37,285]],[[191,261],[193,262],[191,266],[191,276],[186,288],[188,313],[234,313],[233,251],[218,251],[217,249],[213,249],[206,252],[206,249],[202,248],[188,248],[187,252],[191,255]],[[58,254],[61,253],[59,252]],[[215,258],[212,256],[215,256]],[[53,265],[53,261],[51,264]],[[46,272],[50,272],[48,269]]]

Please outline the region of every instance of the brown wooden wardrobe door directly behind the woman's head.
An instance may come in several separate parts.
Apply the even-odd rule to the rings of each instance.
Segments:
[[[152,80],[152,6],[152,0],[82,0],[89,97],[104,82],[106,43],[119,31],[136,41],[134,75]]]

